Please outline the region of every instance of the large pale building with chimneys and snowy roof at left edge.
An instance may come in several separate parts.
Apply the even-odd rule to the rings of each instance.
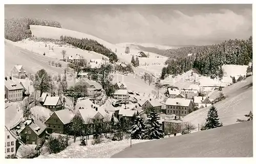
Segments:
[[[23,100],[24,87],[20,83],[12,80],[12,77],[5,77],[5,97],[10,101]]]

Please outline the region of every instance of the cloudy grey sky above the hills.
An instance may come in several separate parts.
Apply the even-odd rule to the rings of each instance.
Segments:
[[[252,5],[5,5],[5,18],[19,16],[111,43],[202,45],[252,35]]]

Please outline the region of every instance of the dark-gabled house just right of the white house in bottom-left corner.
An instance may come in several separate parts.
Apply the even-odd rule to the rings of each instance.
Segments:
[[[46,125],[39,120],[28,119],[24,122],[24,127],[19,132],[26,145],[38,145],[46,135]]]

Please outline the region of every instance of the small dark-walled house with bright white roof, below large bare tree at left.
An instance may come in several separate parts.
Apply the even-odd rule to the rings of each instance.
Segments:
[[[63,103],[62,103],[60,97],[58,97],[58,96],[54,96],[54,97],[46,96],[45,102],[42,106],[50,109],[51,111],[57,111],[57,110],[62,109]]]

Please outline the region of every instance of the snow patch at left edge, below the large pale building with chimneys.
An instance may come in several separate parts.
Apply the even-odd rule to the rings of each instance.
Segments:
[[[19,108],[18,103],[5,103],[5,126],[8,129],[14,128],[23,119],[23,110]]]

